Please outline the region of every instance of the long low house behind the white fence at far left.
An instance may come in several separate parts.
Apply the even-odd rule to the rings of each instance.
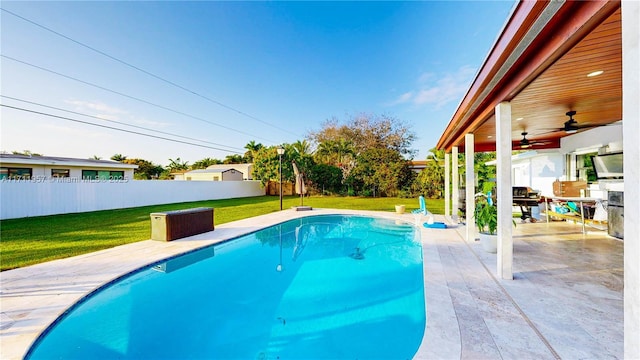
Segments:
[[[131,180],[137,168],[111,160],[0,154],[0,180]]]

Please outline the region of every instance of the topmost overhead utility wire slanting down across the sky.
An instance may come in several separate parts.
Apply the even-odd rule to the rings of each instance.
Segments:
[[[144,69],[142,69],[142,68],[140,68],[140,67],[138,67],[138,66],[135,66],[135,65],[133,65],[133,64],[130,64],[130,63],[128,63],[128,62],[126,62],[126,61],[124,61],[124,60],[121,60],[121,59],[119,59],[119,58],[117,58],[117,57],[115,57],[115,56],[109,55],[109,54],[105,53],[104,51],[98,50],[98,49],[96,49],[96,48],[94,48],[94,47],[92,47],[92,46],[90,46],[90,45],[87,45],[87,44],[82,43],[82,42],[80,42],[80,41],[78,41],[78,40],[75,40],[75,39],[73,39],[73,38],[71,38],[71,37],[69,37],[69,36],[67,36],[67,35],[64,35],[64,34],[62,34],[62,33],[59,33],[59,32],[57,32],[57,31],[55,31],[55,30],[53,30],[53,29],[50,29],[50,28],[48,28],[48,27],[46,27],[46,26],[44,26],[44,25],[41,25],[41,24],[39,24],[39,23],[37,23],[37,22],[35,22],[35,21],[33,21],[33,20],[29,20],[29,19],[27,19],[27,18],[25,18],[25,17],[23,17],[23,16],[20,16],[20,15],[18,15],[18,14],[16,14],[16,13],[12,12],[12,11],[9,11],[9,10],[4,9],[4,8],[3,8],[2,10],[3,10],[3,11],[5,11],[5,12],[7,12],[7,13],[9,13],[9,14],[11,14],[11,15],[13,15],[13,16],[15,16],[15,17],[17,17],[17,18],[20,18],[20,19],[22,19],[22,20],[24,20],[24,21],[26,21],[26,22],[28,22],[28,23],[30,23],[30,24],[33,24],[33,25],[35,25],[35,26],[37,26],[37,27],[39,27],[39,28],[41,28],[41,29],[44,29],[44,30],[46,30],[46,31],[49,31],[49,32],[51,32],[51,33],[53,33],[53,34],[55,34],[55,35],[58,35],[58,36],[60,36],[60,37],[62,37],[62,38],[65,38],[65,39],[67,39],[67,40],[69,40],[69,41],[71,41],[71,42],[73,42],[73,43],[76,43],[76,44],[78,44],[78,45],[80,45],[80,46],[82,46],[82,47],[84,47],[84,48],[87,48],[87,49],[89,49],[89,50],[91,50],[91,51],[93,51],[93,52],[96,52],[96,53],[98,53],[98,54],[100,54],[100,55],[102,55],[102,56],[108,57],[108,58],[109,58],[109,59],[111,59],[111,60],[114,60],[114,61],[116,61],[116,62],[119,62],[120,64],[126,65],[126,66],[128,66],[128,67],[130,67],[130,68],[132,68],[132,69],[135,69],[135,70],[140,71],[140,72],[142,72],[142,73],[144,73],[144,74],[147,74],[147,75],[149,75],[149,76],[151,76],[151,77],[153,77],[153,78],[156,78],[156,79],[158,79],[158,80],[160,80],[160,81],[163,81],[163,82],[165,82],[165,83],[167,83],[167,84],[169,84],[169,85],[172,85],[172,86],[174,86],[174,87],[176,87],[176,88],[178,88],[178,89],[180,89],[180,90],[186,91],[186,92],[188,92],[188,93],[190,93],[190,94],[192,94],[192,95],[195,95],[195,96],[197,96],[197,97],[199,97],[199,98],[202,98],[202,99],[204,99],[204,100],[207,100],[207,101],[209,101],[209,102],[211,102],[211,103],[213,103],[213,104],[216,104],[216,105],[218,105],[218,106],[221,106],[221,107],[223,107],[223,108],[225,108],[225,109],[228,109],[228,110],[234,111],[234,112],[236,112],[236,113],[238,113],[238,114],[240,114],[240,115],[243,115],[243,116],[246,116],[246,117],[248,117],[248,118],[250,118],[250,119],[253,119],[253,120],[255,120],[255,121],[261,122],[261,123],[263,123],[263,124],[265,124],[265,125],[267,125],[267,126],[273,127],[273,128],[278,129],[278,130],[280,130],[280,131],[284,131],[284,132],[289,133],[289,134],[294,135],[294,136],[299,136],[298,134],[295,134],[295,133],[293,133],[293,132],[291,132],[291,131],[289,131],[289,130],[287,130],[287,129],[281,128],[281,127],[279,127],[279,126],[277,126],[277,125],[274,125],[274,124],[272,124],[272,123],[270,123],[270,122],[267,122],[267,121],[261,120],[261,119],[259,119],[259,118],[255,117],[255,116],[253,116],[253,115],[250,115],[250,114],[245,113],[244,111],[241,111],[241,110],[238,110],[238,109],[236,109],[236,108],[233,108],[233,107],[231,107],[231,106],[229,106],[229,105],[223,104],[223,103],[221,103],[220,101],[217,101],[217,100],[211,99],[211,98],[209,98],[209,97],[207,97],[207,96],[205,96],[205,95],[202,95],[202,94],[197,93],[197,92],[195,92],[195,91],[193,91],[193,90],[190,90],[190,89],[188,89],[188,88],[186,88],[186,87],[184,87],[184,86],[182,86],[182,85],[176,84],[176,83],[175,83],[175,82],[173,82],[173,81],[167,80],[167,79],[165,79],[165,78],[163,78],[163,77],[160,77],[160,76],[158,76],[158,75],[156,75],[156,74],[154,74],[154,73],[151,73],[151,72],[149,72],[149,71],[147,71],[147,70],[144,70]]]

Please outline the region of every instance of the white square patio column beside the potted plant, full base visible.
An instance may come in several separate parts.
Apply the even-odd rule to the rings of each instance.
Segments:
[[[511,185],[511,103],[496,106],[496,201],[498,202],[498,276],[513,279],[513,190]]]

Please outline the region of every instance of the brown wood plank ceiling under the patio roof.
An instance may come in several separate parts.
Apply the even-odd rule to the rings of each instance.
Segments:
[[[604,126],[622,119],[621,32],[618,8],[511,100],[514,150],[522,149],[522,132],[533,143],[528,149],[559,147],[559,139],[570,135],[560,130],[569,120],[568,111],[576,112],[573,118],[579,126]],[[594,71],[603,73],[587,76]],[[474,134],[476,151],[495,149],[495,117]]]

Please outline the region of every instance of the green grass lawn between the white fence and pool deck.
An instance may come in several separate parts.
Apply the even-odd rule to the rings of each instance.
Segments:
[[[407,211],[419,207],[417,199],[400,198],[311,197],[305,198],[304,204],[316,208],[377,211],[394,211],[397,204],[405,204]],[[284,198],[283,208],[295,205],[300,205],[299,197]],[[2,220],[0,270],[147,240],[151,235],[150,213],[194,207],[213,207],[217,225],[279,211],[280,199],[259,196]],[[443,214],[444,200],[427,199],[427,208]]]

